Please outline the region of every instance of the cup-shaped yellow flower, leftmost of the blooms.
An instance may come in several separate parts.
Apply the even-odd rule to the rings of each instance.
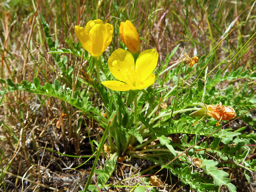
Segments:
[[[85,28],[75,26],[75,33],[86,51],[93,57],[99,57],[112,41],[114,27],[102,20],[91,20]]]

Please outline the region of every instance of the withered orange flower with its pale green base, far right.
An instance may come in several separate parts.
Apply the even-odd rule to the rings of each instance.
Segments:
[[[236,111],[228,106],[222,105],[220,102],[218,105],[206,105],[207,106],[207,114],[210,117],[213,117],[214,119],[218,120],[230,120],[234,119],[236,117]],[[200,110],[197,110],[193,113],[191,113],[191,116],[194,117],[203,117],[206,113],[206,108],[202,108]]]

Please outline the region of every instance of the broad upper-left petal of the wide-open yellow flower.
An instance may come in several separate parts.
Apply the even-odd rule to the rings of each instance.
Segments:
[[[112,75],[130,87],[135,87],[135,65],[129,51],[117,49],[108,58],[108,67]]]

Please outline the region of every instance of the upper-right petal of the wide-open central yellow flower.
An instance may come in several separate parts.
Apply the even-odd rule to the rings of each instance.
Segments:
[[[135,64],[138,84],[146,80],[148,76],[154,71],[157,65],[157,61],[158,53],[156,52],[156,49],[148,49],[140,53]]]

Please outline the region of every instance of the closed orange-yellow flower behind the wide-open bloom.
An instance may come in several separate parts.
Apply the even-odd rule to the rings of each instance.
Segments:
[[[121,22],[119,27],[119,34],[122,42],[131,53],[140,52],[140,36],[131,21],[126,20],[125,22]]]

